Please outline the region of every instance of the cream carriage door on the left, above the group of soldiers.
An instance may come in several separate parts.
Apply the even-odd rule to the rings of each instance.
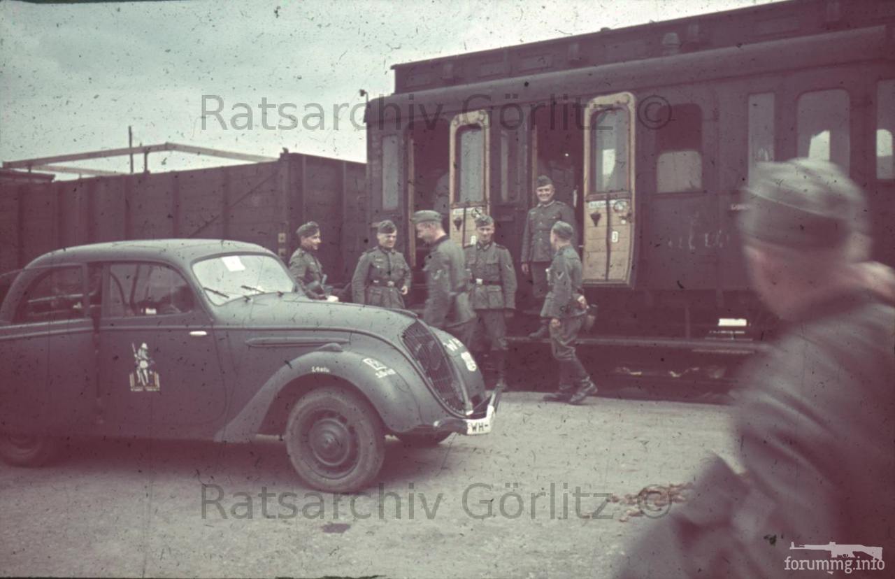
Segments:
[[[475,243],[475,217],[489,213],[488,113],[456,115],[450,126],[450,238]]]

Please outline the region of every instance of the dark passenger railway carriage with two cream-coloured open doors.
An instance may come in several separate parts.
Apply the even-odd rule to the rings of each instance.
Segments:
[[[893,58],[895,2],[805,0],[398,64],[367,110],[371,222],[400,224],[419,267],[413,211],[447,214],[462,243],[486,211],[518,261],[550,175],[599,304],[592,343],[729,348],[703,338],[772,326],[735,228],[755,163],[845,167],[874,258],[895,262]]]

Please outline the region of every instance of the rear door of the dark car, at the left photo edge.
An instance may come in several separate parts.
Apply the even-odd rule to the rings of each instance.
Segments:
[[[31,268],[11,289],[0,326],[0,421],[5,430],[72,434],[90,428],[97,398],[93,299],[81,264]],[[95,288],[98,289],[98,288]],[[95,296],[98,303],[98,294]]]

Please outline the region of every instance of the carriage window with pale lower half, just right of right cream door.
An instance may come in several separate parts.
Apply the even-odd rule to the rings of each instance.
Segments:
[[[656,131],[656,191],[702,190],[702,110],[694,104],[675,105],[654,116],[669,119]]]

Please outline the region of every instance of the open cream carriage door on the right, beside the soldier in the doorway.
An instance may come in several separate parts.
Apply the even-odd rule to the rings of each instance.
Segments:
[[[584,282],[631,285],[635,246],[634,95],[594,98],[584,126]]]

